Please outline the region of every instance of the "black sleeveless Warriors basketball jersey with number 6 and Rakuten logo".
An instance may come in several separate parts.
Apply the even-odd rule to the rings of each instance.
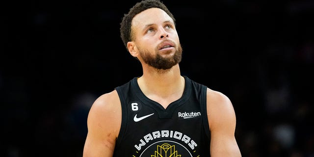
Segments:
[[[166,109],[142,93],[137,78],[115,88],[122,124],[113,157],[210,157],[207,87],[184,78],[183,96]]]

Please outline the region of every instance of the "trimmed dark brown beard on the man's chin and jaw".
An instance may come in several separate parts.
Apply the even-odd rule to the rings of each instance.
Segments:
[[[148,51],[139,50],[140,56],[143,58],[143,61],[158,70],[167,70],[172,68],[174,65],[181,62],[182,59],[182,47],[179,44],[178,49],[173,56],[163,57],[158,53],[158,50],[155,50],[156,56],[152,55]]]

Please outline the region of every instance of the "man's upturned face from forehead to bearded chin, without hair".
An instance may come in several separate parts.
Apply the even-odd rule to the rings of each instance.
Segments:
[[[180,63],[182,47],[174,22],[159,8],[150,8],[132,20],[132,35],[138,59],[156,69],[170,69]]]

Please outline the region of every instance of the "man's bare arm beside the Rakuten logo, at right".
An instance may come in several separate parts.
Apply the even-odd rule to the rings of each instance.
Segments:
[[[235,111],[224,94],[207,90],[211,157],[241,157],[235,140]]]

